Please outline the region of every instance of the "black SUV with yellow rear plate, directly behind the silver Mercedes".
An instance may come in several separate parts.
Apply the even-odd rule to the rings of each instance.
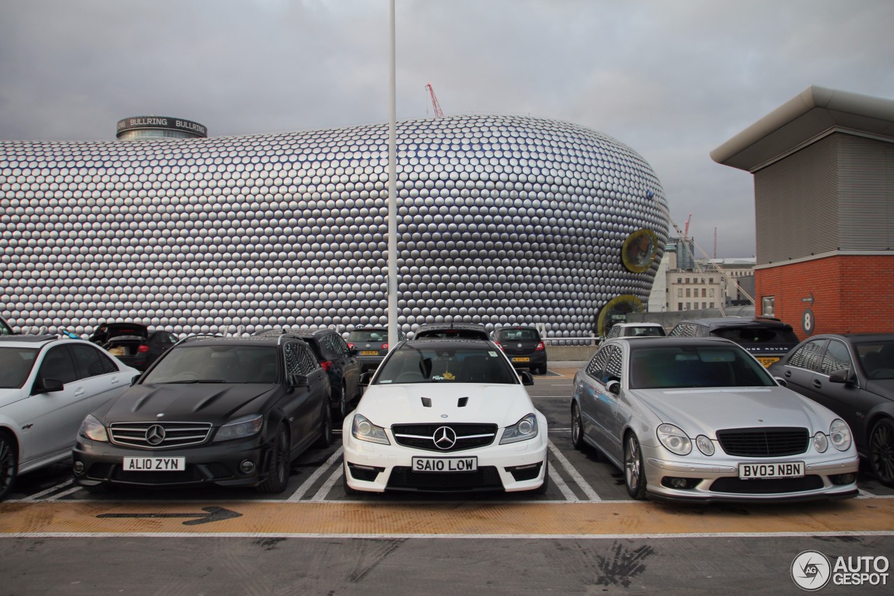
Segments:
[[[723,337],[744,347],[763,366],[770,366],[797,345],[788,323],[772,317],[717,317],[681,320],[671,337]]]

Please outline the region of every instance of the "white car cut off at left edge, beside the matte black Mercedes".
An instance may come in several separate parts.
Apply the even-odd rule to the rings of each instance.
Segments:
[[[136,375],[80,339],[0,338],[0,499],[19,474],[72,456],[84,417]]]

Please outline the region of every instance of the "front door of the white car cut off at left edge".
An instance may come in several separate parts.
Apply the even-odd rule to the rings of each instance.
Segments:
[[[42,391],[38,379],[63,382],[61,391]],[[21,421],[21,467],[58,456],[72,448],[80,423],[90,412],[90,394],[77,380],[67,345],[49,347],[25,384],[29,396],[10,404],[14,420]]]

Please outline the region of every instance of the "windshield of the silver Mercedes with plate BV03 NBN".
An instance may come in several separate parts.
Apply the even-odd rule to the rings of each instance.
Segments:
[[[776,385],[741,349],[694,345],[631,349],[629,379],[632,389]]]

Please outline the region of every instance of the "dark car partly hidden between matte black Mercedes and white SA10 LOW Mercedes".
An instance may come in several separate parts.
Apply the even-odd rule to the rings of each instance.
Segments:
[[[275,333],[275,332],[274,332]],[[357,360],[357,348],[349,347],[341,335],[334,329],[316,330],[293,329],[310,345],[316,354],[320,366],[329,374],[329,385],[332,395],[329,403],[333,409],[333,420],[342,421],[350,412],[348,407],[360,397],[360,363]]]

